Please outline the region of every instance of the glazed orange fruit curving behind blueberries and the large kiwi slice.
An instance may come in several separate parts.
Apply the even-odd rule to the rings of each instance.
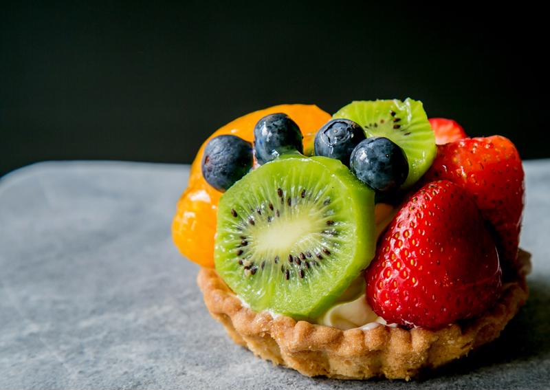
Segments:
[[[304,136],[304,152],[309,154],[313,152],[317,130],[331,118],[329,113],[316,105],[277,105],[241,116],[208,137],[192,163],[188,188],[177,203],[172,223],[173,241],[181,254],[191,261],[201,266],[214,267],[216,213],[221,193],[214,190],[202,177],[201,160],[206,143],[222,134],[233,134],[253,142],[256,122],[263,116],[278,112],[286,113],[298,124]]]

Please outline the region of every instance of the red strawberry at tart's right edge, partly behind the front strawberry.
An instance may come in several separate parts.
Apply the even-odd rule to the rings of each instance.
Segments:
[[[514,144],[502,136],[492,136],[439,146],[425,180],[447,179],[473,195],[483,217],[494,227],[500,261],[506,267],[518,254],[523,178]]]

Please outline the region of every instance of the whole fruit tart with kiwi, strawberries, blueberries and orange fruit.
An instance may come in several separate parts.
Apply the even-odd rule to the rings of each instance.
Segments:
[[[524,174],[412,99],[280,105],[203,144],[173,239],[235,343],[307,376],[409,379],[527,299]]]

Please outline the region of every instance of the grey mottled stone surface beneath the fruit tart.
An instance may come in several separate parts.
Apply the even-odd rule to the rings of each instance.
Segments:
[[[16,171],[0,180],[0,388],[550,387],[550,160],[525,168],[527,305],[496,342],[409,383],[305,378],[234,345],[170,239],[188,166]]]

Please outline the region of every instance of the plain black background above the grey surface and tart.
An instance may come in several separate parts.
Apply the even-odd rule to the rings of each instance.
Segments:
[[[410,3],[3,4],[0,175],[40,160],[191,162],[249,111],[407,96],[550,157],[542,12]]]

